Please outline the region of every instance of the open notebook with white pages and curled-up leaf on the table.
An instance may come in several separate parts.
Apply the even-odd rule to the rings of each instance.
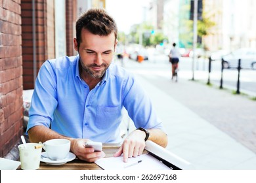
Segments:
[[[189,169],[190,163],[169,152],[152,141],[146,141],[147,154],[129,158],[123,162],[123,156],[102,158],[95,163],[104,170],[171,170]]]

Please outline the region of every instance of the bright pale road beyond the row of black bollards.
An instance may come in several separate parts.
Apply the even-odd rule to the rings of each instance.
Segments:
[[[144,61],[144,69],[148,69],[155,76],[171,78],[171,65],[167,56],[152,56],[149,61]],[[208,72],[208,59],[198,59],[194,61],[194,80],[207,83],[208,77],[211,84],[219,87],[221,85],[221,61],[211,62],[211,73]],[[145,71],[144,71],[145,72]],[[192,58],[181,58],[179,62],[179,78],[192,79]],[[223,88],[236,92],[238,82],[237,69],[223,70]],[[256,71],[241,69],[240,71],[240,92],[256,97]]]

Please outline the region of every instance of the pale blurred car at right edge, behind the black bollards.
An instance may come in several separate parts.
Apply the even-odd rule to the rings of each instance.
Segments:
[[[240,48],[223,56],[224,68],[237,68],[238,59],[241,59],[241,68],[256,69],[256,48]]]

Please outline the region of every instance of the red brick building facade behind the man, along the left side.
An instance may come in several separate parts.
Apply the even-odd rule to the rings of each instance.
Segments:
[[[0,0],[0,157],[24,133],[23,90],[34,88],[45,60],[77,54],[77,12],[91,7],[104,8],[105,1]]]

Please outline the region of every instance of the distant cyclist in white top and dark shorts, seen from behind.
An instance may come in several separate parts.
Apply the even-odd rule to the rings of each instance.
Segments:
[[[169,61],[171,62],[171,72],[172,72],[172,77],[171,79],[173,80],[174,76],[176,76],[176,81],[178,80],[177,78],[177,71],[178,71],[178,66],[179,66],[179,49],[175,47],[176,43],[173,43],[173,48],[171,49],[169,53]]]

